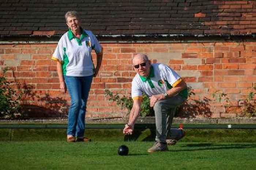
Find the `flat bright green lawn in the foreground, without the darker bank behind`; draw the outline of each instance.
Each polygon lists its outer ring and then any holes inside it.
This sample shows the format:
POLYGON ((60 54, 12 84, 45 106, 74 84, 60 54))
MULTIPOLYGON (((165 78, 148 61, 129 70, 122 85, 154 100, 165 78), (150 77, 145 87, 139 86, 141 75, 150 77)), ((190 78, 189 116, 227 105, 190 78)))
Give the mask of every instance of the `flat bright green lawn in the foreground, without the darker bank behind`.
POLYGON ((0 141, 3 170, 254 170, 256 143, 179 142, 149 154, 153 142, 0 141), (117 155, 121 144, 128 156, 117 155))

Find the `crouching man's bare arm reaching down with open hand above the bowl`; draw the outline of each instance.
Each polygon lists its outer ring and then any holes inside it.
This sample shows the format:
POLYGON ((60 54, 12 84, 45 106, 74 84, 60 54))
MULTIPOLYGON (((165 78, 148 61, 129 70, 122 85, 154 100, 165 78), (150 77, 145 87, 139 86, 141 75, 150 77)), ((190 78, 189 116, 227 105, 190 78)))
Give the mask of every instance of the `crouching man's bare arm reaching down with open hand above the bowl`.
POLYGON ((133 106, 130 112, 129 121, 128 124, 125 125, 125 128, 123 130, 124 134, 132 134, 134 124, 139 117, 140 114, 140 106, 141 106, 142 100, 141 99, 135 99, 133 100, 133 106))

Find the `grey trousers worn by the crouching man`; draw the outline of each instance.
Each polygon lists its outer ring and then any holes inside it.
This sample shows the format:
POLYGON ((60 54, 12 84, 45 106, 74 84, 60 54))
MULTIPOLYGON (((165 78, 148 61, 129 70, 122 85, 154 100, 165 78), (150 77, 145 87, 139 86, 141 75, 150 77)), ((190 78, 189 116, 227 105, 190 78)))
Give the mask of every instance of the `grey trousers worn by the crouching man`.
MULTIPOLYGON (((160 100, 155 103, 155 126, 156 126, 156 141, 166 142, 166 139, 171 139, 175 137, 176 133, 174 129, 171 130, 173 116, 176 107, 181 105, 186 99, 182 98, 180 95, 169 97, 160 100)), ((179 135, 179 134, 177 134, 179 135)))

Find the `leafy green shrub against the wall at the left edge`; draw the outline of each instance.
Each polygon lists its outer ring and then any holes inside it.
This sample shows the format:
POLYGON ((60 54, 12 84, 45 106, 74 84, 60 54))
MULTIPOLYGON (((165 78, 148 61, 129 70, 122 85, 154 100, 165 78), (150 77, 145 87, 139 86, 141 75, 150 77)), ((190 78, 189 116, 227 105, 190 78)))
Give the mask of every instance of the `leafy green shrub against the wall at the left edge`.
POLYGON ((21 94, 10 86, 12 82, 7 81, 5 73, 7 68, 4 68, 3 75, 0 76, 0 118, 11 119, 21 117, 19 100, 21 94))

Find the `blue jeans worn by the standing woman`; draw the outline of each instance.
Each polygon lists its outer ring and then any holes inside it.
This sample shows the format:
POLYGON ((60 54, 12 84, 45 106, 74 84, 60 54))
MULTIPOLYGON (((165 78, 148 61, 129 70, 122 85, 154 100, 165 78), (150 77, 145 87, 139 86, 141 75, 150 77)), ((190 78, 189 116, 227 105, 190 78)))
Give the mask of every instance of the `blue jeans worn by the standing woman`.
POLYGON ((83 137, 86 103, 93 76, 64 76, 64 80, 71 97, 71 104, 68 111, 67 135, 83 137))

